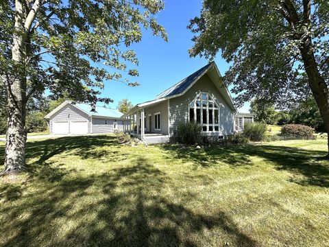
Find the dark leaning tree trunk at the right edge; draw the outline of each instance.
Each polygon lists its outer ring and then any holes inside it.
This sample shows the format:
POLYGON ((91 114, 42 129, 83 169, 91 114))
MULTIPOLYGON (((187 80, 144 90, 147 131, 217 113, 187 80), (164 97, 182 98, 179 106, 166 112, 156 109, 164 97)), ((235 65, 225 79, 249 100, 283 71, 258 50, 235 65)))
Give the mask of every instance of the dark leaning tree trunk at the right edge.
POLYGON ((304 68, 308 76, 308 84, 315 97, 317 106, 322 119, 324 120, 324 125, 328 133, 328 154, 326 158, 329 158, 329 91, 328 86, 324 78, 321 77, 319 69, 317 67, 317 62, 312 49, 312 42, 310 37, 304 40, 304 44, 300 47, 302 54, 302 59, 304 62, 304 68))

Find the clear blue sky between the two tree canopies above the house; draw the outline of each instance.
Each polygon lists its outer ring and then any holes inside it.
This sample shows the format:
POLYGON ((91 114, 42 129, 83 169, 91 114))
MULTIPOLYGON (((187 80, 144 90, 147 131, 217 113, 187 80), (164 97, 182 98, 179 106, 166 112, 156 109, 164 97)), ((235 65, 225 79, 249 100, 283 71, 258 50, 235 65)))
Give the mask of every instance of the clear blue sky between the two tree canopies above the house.
MULTIPOLYGON (((127 98, 134 105, 154 99, 158 93, 176 82, 186 78, 197 69, 208 63, 205 58, 190 58, 188 49, 193 46, 193 34, 187 30, 189 20, 199 16, 202 8, 201 0, 166 0, 164 10, 158 13, 158 22, 164 26, 169 36, 166 43, 162 38, 152 36, 148 30, 143 32, 140 43, 132 45, 136 51, 140 76, 136 79, 141 86, 130 87, 121 82, 106 82, 103 96, 114 99, 111 108, 117 107, 120 99, 127 98)), ((229 68, 229 64, 218 54, 215 59, 222 75, 229 68)), ((232 95, 234 97, 234 95, 232 95)), ((241 112, 249 112, 246 103, 241 112)))

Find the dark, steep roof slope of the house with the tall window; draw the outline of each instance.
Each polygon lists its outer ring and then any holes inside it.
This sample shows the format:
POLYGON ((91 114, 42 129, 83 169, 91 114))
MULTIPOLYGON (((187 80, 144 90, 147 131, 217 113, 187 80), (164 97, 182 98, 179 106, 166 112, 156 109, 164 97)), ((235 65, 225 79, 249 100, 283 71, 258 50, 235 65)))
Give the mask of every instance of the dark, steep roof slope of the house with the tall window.
POLYGON ((178 95, 182 92, 184 92, 185 89, 188 88, 204 71, 206 71, 210 66, 212 65, 212 62, 208 63, 206 66, 202 67, 198 71, 195 71, 193 74, 188 75, 187 78, 184 80, 181 80, 177 84, 171 86, 171 88, 163 91, 158 96, 156 96, 156 99, 161 99, 162 97, 168 97, 173 95, 178 95))

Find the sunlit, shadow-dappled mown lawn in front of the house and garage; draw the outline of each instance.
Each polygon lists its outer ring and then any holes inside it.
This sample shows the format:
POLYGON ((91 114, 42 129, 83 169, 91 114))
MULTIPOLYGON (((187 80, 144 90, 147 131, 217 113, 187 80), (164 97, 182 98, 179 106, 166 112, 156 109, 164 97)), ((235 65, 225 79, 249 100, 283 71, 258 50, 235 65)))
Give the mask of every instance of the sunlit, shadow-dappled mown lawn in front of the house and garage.
POLYGON ((0 246, 328 246, 325 154, 326 140, 30 140, 27 171, 0 178, 0 246))

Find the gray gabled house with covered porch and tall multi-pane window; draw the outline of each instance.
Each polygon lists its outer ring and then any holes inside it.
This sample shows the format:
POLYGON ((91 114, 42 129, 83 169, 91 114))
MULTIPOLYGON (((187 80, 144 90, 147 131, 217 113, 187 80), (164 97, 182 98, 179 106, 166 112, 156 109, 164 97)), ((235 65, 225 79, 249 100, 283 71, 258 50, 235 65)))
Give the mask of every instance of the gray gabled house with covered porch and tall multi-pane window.
POLYGON ((234 133, 236 113, 217 65, 210 62, 155 99, 137 104, 123 118, 131 121, 126 132, 156 143, 174 137, 182 121, 196 121, 204 135, 223 139, 234 133))

